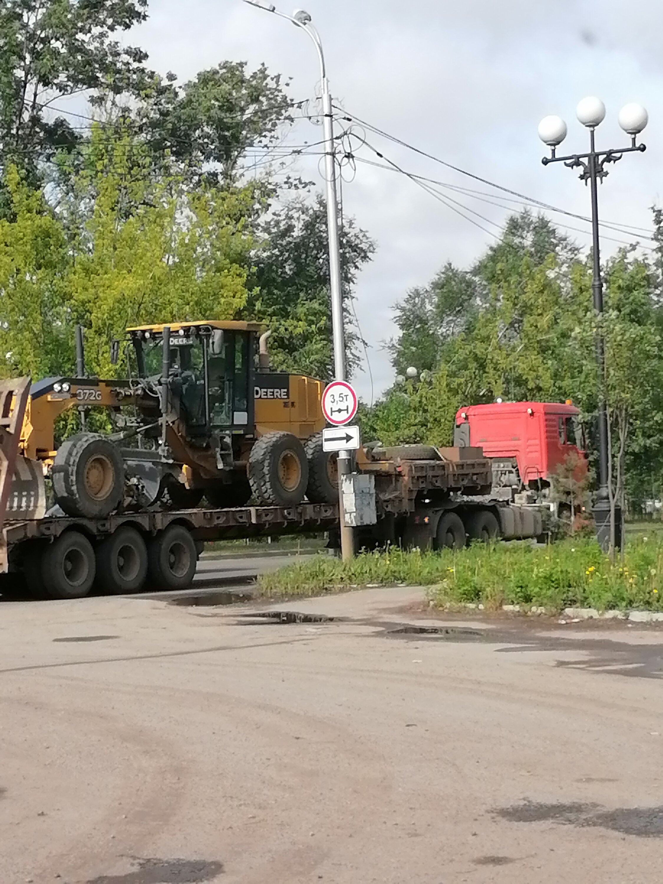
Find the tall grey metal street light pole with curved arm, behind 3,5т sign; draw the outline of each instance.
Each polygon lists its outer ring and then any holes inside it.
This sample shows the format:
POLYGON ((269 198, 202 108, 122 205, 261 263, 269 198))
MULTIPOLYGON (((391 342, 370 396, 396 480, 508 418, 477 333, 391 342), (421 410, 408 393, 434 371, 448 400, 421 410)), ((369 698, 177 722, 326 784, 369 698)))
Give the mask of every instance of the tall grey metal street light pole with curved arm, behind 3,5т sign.
MULTIPOLYGON (((334 379, 346 380, 346 335, 343 323, 343 292, 340 275, 340 238, 339 238, 339 197, 336 189, 336 159, 334 151, 334 118, 331 107, 331 92, 327 70, 324 63, 323 44, 311 17, 305 10, 299 9, 293 15, 279 12, 273 4, 263 4, 259 0, 244 0, 250 6, 257 6, 266 12, 277 15, 279 19, 292 22, 295 27, 309 34, 313 41, 320 62, 322 81, 323 134, 324 134, 324 184, 327 202, 327 231, 329 234, 329 275, 331 289, 331 331, 334 352, 334 379)), ((347 527, 343 507, 343 476, 352 472, 351 453, 339 451, 339 524, 340 548, 344 560, 354 556, 354 529, 347 527)))

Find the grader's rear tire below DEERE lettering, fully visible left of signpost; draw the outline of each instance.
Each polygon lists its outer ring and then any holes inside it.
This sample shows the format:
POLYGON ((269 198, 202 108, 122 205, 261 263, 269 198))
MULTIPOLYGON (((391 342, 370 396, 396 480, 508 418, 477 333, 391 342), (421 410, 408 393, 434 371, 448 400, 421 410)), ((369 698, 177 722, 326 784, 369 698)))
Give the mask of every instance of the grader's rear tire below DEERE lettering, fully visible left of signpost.
POLYGON ((295 507, 309 484, 304 446, 292 433, 265 433, 248 455, 248 481, 259 504, 295 507))

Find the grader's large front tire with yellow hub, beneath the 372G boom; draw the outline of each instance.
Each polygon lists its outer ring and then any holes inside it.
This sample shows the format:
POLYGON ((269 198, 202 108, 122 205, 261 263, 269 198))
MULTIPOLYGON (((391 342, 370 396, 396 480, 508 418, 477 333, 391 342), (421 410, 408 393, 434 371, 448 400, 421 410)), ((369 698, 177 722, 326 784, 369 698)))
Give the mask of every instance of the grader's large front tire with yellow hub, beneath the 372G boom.
POLYGON ((56 503, 67 515, 97 519, 118 508, 125 465, 110 439, 77 433, 57 449, 52 477, 56 503))

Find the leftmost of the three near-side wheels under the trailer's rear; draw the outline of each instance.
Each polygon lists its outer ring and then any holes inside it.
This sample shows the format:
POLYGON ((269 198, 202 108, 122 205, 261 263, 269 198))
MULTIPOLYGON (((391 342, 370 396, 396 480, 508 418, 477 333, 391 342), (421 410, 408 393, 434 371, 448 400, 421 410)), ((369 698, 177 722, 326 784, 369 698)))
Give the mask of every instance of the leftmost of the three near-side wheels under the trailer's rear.
POLYGON ((84 598, 95 583, 95 551, 79 531, 65 531, 42 552, 42 582, 48 598, 84 598))

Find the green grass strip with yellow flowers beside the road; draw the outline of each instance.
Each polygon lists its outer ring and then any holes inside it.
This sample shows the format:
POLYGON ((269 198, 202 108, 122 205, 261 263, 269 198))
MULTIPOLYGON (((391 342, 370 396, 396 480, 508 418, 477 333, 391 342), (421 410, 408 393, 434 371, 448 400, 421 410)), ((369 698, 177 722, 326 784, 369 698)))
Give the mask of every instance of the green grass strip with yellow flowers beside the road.
POLYGON ((611 565, 594 540, 549 546, 473 545, 459 552, 367 552, 347 564, 329 556, 296 562, 258 578, 268 598, 316 596, 370 584, 428 587, 436 606, 461 603, 599 610, 663 610, 663 538, 629 541, 611 565))

